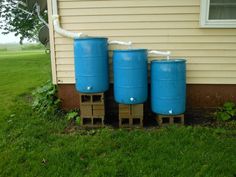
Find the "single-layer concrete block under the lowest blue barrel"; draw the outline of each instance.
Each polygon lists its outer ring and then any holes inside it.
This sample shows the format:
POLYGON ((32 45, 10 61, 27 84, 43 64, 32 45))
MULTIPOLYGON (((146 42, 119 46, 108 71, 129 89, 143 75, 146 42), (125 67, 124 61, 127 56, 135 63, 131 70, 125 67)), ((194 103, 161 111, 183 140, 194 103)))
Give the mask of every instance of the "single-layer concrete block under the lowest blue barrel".
POLYGON ((184 114, 179 115, 157 115, 156 121, 159 126, 184 125, 184 114))

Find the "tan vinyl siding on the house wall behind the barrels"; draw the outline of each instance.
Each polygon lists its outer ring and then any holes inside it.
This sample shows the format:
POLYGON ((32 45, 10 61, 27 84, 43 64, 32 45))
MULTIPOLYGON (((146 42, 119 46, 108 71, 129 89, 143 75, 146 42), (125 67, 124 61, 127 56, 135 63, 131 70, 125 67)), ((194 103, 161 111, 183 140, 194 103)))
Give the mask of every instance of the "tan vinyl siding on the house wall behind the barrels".
MULTIPOLYGON (((59 0, 59 13, 67 30, 186 58, 188 83, 236 84, 236 29, 200 28, 200 0, 59 0)), ((52 46, 57 83, 75 83, 73 40, 55 34, 52 46)))

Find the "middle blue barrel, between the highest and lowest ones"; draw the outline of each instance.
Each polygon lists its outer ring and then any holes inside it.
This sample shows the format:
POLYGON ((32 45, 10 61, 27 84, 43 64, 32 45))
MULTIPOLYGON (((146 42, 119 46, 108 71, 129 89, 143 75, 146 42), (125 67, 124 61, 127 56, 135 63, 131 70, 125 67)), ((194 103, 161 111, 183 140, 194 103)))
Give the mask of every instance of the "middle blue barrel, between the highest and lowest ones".
POLYGON ((147 100, 147 50, 114 50, 114 95, 121 104, 140 104, 147 100))

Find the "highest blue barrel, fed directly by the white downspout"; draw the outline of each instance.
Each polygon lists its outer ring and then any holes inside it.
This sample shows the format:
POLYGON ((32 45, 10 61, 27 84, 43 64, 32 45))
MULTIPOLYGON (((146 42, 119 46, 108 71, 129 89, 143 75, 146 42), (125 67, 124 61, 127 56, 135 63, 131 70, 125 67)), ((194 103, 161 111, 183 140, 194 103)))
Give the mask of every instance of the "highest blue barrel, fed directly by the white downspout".
POLYGON ((107 38, 74 40, 76 90, 81 93, 105 92, 109 88, 107 38))

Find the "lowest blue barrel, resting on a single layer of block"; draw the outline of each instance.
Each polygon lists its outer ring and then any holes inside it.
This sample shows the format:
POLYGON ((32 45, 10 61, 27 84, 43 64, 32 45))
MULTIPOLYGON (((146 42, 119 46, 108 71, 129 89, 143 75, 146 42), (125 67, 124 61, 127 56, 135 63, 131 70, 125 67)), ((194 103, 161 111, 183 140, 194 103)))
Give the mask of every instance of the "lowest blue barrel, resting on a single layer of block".
POLYGON ((163 115, 185 112, 186 60, 154 60, 151 63, 152 111, 163 115))

